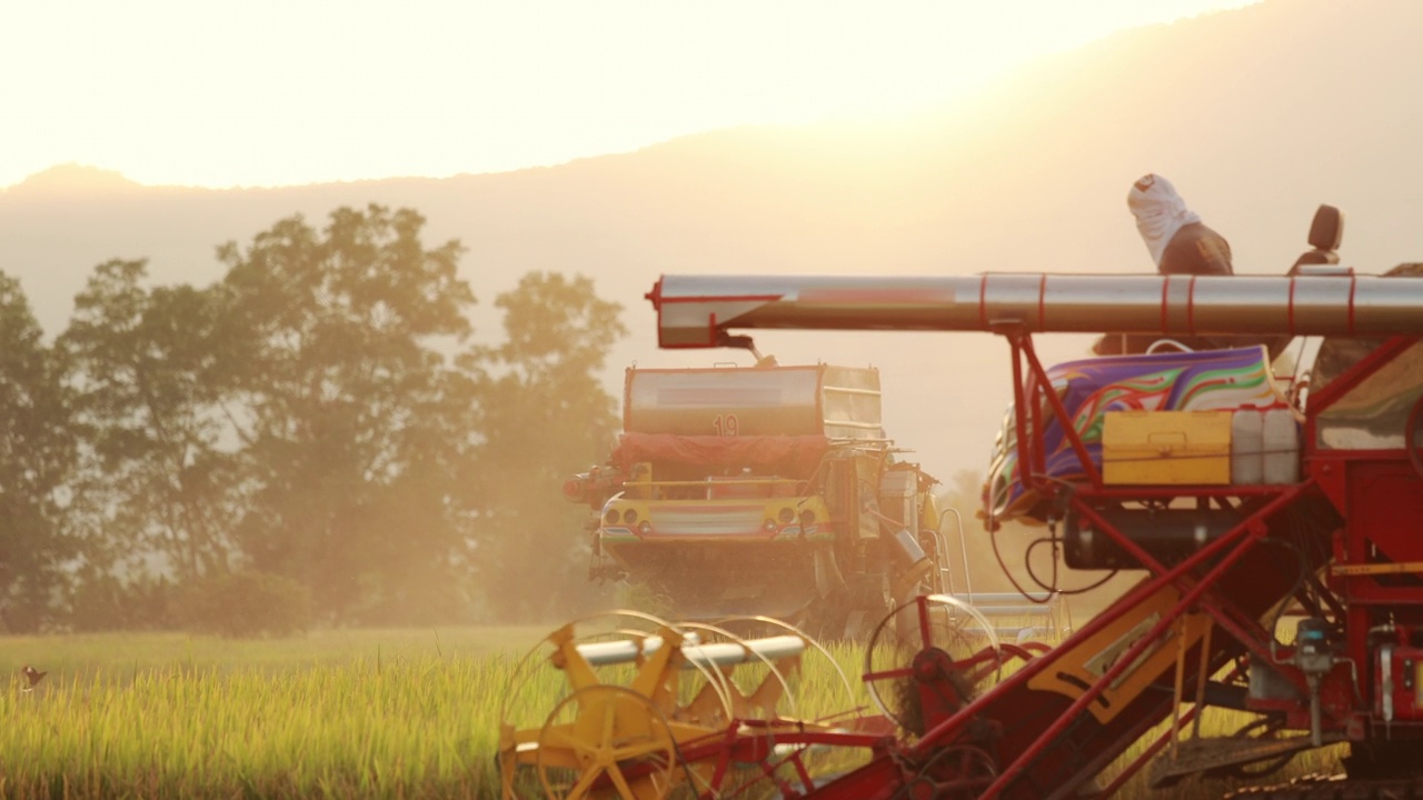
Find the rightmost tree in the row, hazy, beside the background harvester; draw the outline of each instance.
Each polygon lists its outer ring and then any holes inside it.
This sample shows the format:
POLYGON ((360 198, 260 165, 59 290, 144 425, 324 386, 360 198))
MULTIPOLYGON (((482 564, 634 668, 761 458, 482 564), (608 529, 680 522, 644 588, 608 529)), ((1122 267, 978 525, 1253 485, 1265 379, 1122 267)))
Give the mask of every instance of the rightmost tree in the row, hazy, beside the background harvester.
POLYGON ((585 276, 531 273, 495 305, 505 343, 465 362, 484 397, 484 443, 468 480, 474 564, 491 609, 528 621, 586 596, 586 510, 564 502, 558 487, 606 457, 618 407, 599 373, 626 329, 620 306, 585 276))

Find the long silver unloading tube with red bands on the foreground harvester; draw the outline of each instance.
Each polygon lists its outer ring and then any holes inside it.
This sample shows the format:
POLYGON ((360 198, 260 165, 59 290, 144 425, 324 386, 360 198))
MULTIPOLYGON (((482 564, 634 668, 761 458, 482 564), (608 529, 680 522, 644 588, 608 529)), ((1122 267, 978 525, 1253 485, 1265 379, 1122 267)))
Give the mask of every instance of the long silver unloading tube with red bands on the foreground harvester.
POLYGON ((662 347, 731 344, 731 329, 1423 335, 1423 280, 1368 275, 709 276, 647 293, 662 347))

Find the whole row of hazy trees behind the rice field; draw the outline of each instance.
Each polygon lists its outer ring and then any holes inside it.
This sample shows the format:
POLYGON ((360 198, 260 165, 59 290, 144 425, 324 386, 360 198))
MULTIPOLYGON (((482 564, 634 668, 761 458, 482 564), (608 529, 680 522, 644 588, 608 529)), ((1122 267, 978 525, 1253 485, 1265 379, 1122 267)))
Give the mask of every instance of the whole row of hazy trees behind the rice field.
MULTIPOLYGON (((206 288, 110 260, 46 344, 0 275, 9 632, 528 621, 588 599, 562 478, 605 451, 626 332, 583 276, 527 275, 474 343, 464 248, 339 208, 218 248, 206 288)), ((477 265, 477 269, 502 269, 477 265)))

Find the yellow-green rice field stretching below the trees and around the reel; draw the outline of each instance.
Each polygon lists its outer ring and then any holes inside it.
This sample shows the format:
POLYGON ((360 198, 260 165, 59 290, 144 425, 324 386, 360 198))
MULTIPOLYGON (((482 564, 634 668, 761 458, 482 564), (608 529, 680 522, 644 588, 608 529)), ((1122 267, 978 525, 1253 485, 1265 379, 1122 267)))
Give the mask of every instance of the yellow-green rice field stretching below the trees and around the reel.
MULTIPOLYGON (((546 628, 353 631, 285 641, 184 635, 0 639, 0 797, 497 797, 501 705, 546 715, 559 676, 515 668, 546 628), (33 690, 20 668, 48 676, 33 690), (515 689, 521 689, 515 692, 515 689)), ((831 648, 864 705, 862 652, 831 648)), ((541 660, 541 659, 535 659, 541 660)), ((801 716, 845 710, 820 655, 801 716)), ((1238 722, 1205 717, 1208 735, 1238 722)), ((1144 744, 1143 744, 1144 746, 1144 744)), ((1332 754, 1282 773, 1332 772, 1332 754)), ((1109 776, 1110 777, 1110 776, 1109 776)), ((1210 797, 1228 784, 1121 797, 1210 797)))

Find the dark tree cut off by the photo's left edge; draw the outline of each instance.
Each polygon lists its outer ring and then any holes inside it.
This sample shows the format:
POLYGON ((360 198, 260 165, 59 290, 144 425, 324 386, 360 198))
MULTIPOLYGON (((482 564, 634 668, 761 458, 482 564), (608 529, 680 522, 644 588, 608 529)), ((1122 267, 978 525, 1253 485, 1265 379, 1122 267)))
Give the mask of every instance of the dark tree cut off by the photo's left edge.
POLYGON ((74 555, 61 524, 74 440, 60 369, 20 283, 0 273, 0 621, 53 619, 74 555))

